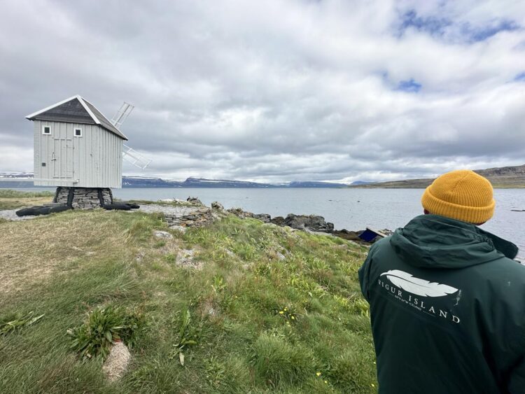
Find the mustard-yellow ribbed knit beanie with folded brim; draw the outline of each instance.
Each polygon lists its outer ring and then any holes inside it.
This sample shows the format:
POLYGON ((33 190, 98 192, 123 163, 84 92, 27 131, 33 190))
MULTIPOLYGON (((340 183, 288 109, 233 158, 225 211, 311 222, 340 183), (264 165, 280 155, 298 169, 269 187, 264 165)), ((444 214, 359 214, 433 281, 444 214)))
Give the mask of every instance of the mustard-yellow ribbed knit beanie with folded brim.
POLYGON ((489 220, 496 206, 491 183, 468 169, 436 178, 423 193, 421 204, 434 215, 474 224, 489 220))

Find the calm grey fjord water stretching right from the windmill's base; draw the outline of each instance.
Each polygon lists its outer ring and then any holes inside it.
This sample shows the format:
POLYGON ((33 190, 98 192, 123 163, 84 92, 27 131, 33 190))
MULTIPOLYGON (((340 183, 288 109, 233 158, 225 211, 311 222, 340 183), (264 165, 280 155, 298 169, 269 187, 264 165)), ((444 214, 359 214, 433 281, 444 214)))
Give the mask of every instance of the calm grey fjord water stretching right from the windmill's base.
MULTIPOLYGON (((186 199, 199 197, 204 204, 218 201, 225 208, 286 216, 288 213, 324 216, 340 230, 377 230, 402 227, 422 213, 419 189, 314 189, 314 188, 125 188, 113 190, 120 199, 186 199)), ((525 260, 524 189, 494 190, 496 213, 482 228, 514 242, 525 260)))

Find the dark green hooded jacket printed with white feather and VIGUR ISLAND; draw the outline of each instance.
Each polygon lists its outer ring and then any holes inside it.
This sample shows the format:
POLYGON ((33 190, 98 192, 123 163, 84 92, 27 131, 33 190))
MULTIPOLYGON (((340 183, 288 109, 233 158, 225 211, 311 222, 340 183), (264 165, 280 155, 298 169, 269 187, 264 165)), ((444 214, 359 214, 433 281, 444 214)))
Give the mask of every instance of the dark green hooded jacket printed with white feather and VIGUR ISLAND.
MULTIPOLYGON (((516 229, 521 231, 521 229, 516 229)), ((525 393, 525 266, 475 225, 421 215, 359 269, 379 393, 525 393)))

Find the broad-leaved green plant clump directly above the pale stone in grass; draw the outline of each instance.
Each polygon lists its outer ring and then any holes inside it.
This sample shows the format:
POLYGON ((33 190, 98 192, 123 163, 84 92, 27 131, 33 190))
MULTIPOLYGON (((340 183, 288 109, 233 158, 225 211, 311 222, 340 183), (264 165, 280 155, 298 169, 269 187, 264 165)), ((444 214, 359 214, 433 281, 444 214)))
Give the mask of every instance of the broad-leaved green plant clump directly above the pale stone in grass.
POLYGON ((118 340, 132 348, 137 342, 137 332, 145 324, 143 315, 109 306, 90 311, 87 322, 70 328, 67 334, 72 339, 71 349, 77 351, 82 358, 106 358, 111 345, 118 340))

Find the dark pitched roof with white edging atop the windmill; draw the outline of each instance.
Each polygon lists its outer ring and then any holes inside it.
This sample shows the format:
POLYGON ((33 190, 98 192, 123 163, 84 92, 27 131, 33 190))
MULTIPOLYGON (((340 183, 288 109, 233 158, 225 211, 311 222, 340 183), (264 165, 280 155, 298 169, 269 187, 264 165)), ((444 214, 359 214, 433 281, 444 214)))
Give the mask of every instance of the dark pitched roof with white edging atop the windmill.
POLYGON ((78 94, 69 99, 59 101, 52 106, 43 108, 40 111, 31 113, 26 116, 29 120, 50 120, 53 122, 72 122, 72 123, 85 123, 87 125, 99 125, 109 132, 116 134, 121 139, 127 140, 127 137, 120 132, 106 118, 97 107, 91 104, 89 101, 83 99, 78 94))

